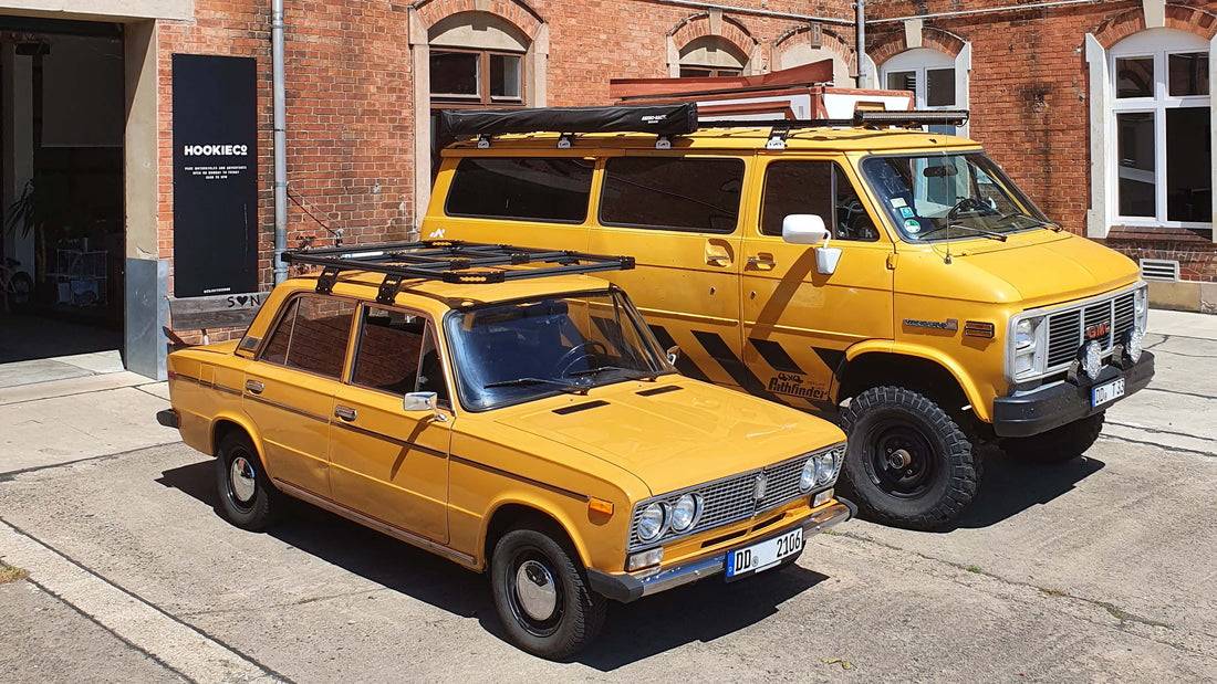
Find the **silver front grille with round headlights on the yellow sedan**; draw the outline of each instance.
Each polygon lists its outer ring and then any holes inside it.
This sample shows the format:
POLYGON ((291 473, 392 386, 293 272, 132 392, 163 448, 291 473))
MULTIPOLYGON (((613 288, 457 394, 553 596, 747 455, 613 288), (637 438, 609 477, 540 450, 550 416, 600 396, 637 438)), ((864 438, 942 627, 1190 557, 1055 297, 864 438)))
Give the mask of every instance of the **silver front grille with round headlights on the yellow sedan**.
MULTIPOLYGON (((840 445, 834 445, 830 448, 837 448, 840 445)), ((641 516, 645 507, 634 507, 634 519, 629 525, 629 549, 634 550, 644 545, 654 545, 668 542, 677 537, 684 537, 722 525, 728 525, 738 520, 751 518, 772 508, 776 508, 784 503, 790 503, 798 497, 811 496, 813 491, 819 491, 824 488, 824 486, 814 487, 811 491, 804 492, 798 488, 798 479, 803 473, 803 464, 807 463, 807 459, 814 454, 823 453, 824 451, 829 450, 806 453, 790 460, 768 465, 761 470, 751 470, 748 473, 733 475, 716 482, 680 490, 679 492, 673 492, 660 497, 658 499, 649 499, 646 502, 647 504, 660 501, 667 503, 668 505, 673 505, 682 494, 696 492, 702 496, 703 503, 701 518, 691 530, 679 535, 666 533, 661 535, 661 537, 656 541, 643 542, 643 539, 638 536, 638 519, 641 516), (753 494, 757 488, 757 475, 762 473, 765 476, 765 492, 764 497, 758 499, 755 498, 753 494)), ((837 469, 840 469, 840 464, 837 465, 837 469)))

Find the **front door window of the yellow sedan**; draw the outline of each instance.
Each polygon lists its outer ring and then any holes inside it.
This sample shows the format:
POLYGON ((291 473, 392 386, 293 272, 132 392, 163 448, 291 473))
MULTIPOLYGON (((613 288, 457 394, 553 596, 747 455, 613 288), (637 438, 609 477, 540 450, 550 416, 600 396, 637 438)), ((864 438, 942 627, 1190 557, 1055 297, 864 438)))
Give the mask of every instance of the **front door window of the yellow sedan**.
POLYGON ((404 311, 365 306, 350 381, 396 395, 414 391, 427 322, 404 311))

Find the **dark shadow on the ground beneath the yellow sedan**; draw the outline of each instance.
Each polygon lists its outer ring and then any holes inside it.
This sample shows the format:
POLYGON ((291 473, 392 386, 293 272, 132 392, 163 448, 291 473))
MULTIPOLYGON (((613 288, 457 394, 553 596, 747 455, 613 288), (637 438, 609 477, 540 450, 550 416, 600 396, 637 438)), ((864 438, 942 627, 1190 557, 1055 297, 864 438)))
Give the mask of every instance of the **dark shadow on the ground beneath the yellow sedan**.
MULTIPOLYGON (((212 460, 166 470, 156 482, 220 515, 212 460)), ((475 617, 506 640, 484 575, 302 502, 292 502, 286 519, 268 533, 388 589, 475 617)), ((730 584, 714 577, 633 604, 611 603, 602 634, 573 661, 608 672, 688 643, 712 641, 774 615, 781 603, 824 580, 792 565, 730 584)))

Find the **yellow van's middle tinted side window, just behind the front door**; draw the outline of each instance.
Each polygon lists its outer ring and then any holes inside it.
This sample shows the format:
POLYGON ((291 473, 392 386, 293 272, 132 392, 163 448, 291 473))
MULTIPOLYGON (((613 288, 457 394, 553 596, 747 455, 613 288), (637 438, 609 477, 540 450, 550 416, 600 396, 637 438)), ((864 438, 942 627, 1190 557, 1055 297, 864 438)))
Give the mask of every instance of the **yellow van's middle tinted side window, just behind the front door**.
POLYGON ((742 159, 616 157, 605 165, 600 222, 731 233, 742 187, 742 159))

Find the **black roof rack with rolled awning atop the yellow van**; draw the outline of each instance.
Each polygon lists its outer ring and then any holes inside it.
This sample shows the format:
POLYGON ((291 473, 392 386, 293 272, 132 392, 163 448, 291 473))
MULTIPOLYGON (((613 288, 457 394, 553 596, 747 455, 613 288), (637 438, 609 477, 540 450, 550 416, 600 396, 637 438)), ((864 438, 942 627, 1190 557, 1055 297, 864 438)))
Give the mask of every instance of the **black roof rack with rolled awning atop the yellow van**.
POLYGON ((668 147, 671 136, 688 135, 699 129, 769 128, 770 146, 775 139, 798 128, 860 126, 914 128, 926 125, 961 126, 966 109, 914 109, 903 112, 859 109, 849 119, 697 119, 697 104, 626 104, 617 107, 538 107, 527 109, 442 109, 439 129, 449 136, 472 135, 478 147, 489 147, 490 139, 504 134, 562 134, 559 147, 571 146, 571 135, 581 132, 650 132, 658 136, 656 147, 668 147), (780 131, 785 131, 780 134, 780 131))

